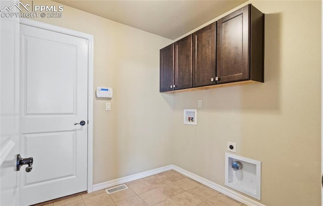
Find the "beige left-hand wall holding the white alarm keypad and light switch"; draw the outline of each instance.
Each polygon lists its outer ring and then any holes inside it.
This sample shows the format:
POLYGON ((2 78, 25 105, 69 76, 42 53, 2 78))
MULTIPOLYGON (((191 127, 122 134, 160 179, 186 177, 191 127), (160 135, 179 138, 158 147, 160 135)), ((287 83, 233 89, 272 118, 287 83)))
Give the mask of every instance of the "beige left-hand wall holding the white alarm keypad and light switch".
POLYGON ((114 89, 111 112, 94 97, 93 183, 169 165, 173 101, 158 91, 159 49, 171 40, 67 6, 63 18, 37 20, 92 34, 94 89, 114 89))

